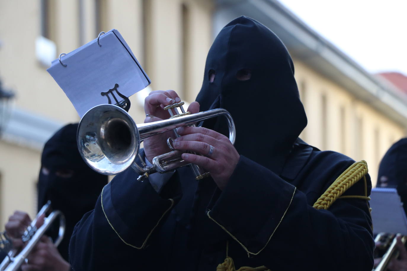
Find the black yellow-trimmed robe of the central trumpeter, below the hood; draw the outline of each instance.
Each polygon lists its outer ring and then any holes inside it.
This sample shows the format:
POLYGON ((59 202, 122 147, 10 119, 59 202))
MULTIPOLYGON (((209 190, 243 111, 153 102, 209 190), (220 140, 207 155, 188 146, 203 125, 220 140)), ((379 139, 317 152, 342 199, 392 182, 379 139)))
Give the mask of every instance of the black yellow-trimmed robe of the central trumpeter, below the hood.
MULTIPOLYGON (((71 264, 77 271, 215 270, 228 241, 236 269, 372 270, 367 202, 338 199, 329 210, 312 207, 353 162, 298 140, 280 176, 241 156, 222 192, 211 180, 193 180, 183 168, 161 195, 127 170, 105 186, 104 211, 99 197, 77 224, 71 264)), ((345 195, 363 191, 358 182, 345 195)))

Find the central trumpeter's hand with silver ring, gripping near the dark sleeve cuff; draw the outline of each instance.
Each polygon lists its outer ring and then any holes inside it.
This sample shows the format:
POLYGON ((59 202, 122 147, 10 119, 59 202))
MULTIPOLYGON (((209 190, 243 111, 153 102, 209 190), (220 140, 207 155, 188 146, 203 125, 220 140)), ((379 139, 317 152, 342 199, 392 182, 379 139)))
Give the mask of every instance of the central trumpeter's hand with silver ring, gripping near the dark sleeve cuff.
POLYGON ((204 155, 184 153, 182 158, 209 171, 219 189, 223 190, 240 158, 229 138, 203 127, 181 127, 178 134, 181 137, 175 139, 175 149, 204 155), (210 145, 213 152, 205 156, 210 151, 210 145))

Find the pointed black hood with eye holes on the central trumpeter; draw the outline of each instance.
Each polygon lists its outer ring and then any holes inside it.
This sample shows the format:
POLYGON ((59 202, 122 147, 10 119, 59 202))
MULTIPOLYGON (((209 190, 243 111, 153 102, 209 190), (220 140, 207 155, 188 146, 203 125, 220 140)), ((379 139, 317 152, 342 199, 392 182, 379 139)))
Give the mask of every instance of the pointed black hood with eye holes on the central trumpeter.
MULTIPOLYGON (((245 16, 216 37, 196 100, 201 111, 228 110, 236 125, 236 150, 276 174, 307 123, 287 48, 266 26, 245 16), (249 80, 236 78, 242 69, 251 71, 249 80)), ((228 134, 222 119, 204 126, 228 134)))

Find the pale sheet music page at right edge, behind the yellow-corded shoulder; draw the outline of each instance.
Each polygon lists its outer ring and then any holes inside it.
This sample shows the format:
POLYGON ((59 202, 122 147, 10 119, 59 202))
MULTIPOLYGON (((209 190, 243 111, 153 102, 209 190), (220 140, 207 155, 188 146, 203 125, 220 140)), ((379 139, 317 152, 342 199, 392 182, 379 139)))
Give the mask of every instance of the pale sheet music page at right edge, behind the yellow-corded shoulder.
POLYGON ((395 188, 374 188, 370 194, 373 232, 407 235, 407 218, 395 188))

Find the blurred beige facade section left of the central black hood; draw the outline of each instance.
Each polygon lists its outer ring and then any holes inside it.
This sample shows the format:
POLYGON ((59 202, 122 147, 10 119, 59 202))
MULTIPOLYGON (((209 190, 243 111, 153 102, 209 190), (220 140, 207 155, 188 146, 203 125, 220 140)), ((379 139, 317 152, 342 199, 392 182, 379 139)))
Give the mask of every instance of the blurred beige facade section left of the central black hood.
POLYGON ((16 209, 35 215, 43 144, 62 125, 79 121, 46 72, 50 61, 118 29, 152 81, 130 98, 129 113, 140 123, 152 89, 194 100, 212 42, 213 7, 207 0, 0 0, 0 80, 16 94, 0 140, 0 230, 16 209), (44 37, 45 44, 38 41, 44 37))

